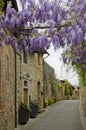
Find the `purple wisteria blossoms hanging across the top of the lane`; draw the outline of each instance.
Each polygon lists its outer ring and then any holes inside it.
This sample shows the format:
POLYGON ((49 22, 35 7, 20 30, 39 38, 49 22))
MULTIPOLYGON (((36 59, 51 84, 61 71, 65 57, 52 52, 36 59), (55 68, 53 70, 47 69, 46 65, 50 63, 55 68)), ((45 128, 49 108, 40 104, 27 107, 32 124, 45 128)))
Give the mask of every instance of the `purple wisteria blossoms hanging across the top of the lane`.
MULTIPOLYGON (((21 0, 22 10, 8 4, 0 16, 0 46, 12 45, 26 53, 69 47, 72 65, 86 71, 86 0, 21 0)), ((67 57, 63 60, 67 61, 67 57)))

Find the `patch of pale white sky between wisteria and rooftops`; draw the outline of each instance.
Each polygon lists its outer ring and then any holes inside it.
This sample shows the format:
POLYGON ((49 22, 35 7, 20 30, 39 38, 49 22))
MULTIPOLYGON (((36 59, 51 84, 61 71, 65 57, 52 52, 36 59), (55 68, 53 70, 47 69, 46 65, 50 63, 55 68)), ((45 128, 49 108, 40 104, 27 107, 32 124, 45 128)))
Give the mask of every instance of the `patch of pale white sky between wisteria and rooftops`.
MULTIPOLYGON (((61 53, 62 48, 58 50, 54 50, 53 46, 50 47, 48 50, 48 53, 50 54, 47 58, 45 58, 45 61, 55 70, 55 75, 57 79, 67 79, 72 85, 77 86, 78 85, 78 75, 76 72, 73 71, 73 69, 69 69, 67 71, 67 67, 63 64, 63 61, 61 59, 61 53)), ((44 56, 45 57, 45 56, 44 56)))

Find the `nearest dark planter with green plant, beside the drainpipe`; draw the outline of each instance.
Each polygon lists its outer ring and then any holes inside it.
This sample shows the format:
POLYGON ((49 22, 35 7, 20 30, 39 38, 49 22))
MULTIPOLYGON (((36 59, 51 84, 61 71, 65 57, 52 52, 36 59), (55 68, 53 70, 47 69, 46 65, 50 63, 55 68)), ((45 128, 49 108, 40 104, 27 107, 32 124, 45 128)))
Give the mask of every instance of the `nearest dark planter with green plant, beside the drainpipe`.
POLYGON ((29 120, 31 109, 25 103, 20 104, 19 108, 19 123, 26 124, 29 120))

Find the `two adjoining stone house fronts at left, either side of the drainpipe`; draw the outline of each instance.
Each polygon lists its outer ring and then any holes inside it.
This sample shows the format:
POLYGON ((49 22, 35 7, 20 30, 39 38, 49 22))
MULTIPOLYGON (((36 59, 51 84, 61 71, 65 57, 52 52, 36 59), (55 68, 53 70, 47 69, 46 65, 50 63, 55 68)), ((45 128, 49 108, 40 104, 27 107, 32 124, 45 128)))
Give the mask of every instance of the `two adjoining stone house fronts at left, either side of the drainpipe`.
POLYGON ((38 101, 43 108, 42 54, 15 53, 11 46, 0 48, 0 130, 13 130, 18 125, 20 102, 29 106, 38 101))

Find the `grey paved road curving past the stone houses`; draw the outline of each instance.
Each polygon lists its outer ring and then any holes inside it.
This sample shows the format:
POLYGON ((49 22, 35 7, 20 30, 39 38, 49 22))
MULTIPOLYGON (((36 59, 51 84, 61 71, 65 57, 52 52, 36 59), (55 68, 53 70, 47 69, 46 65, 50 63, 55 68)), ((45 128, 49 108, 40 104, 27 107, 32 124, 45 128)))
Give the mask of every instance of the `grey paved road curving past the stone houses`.
POLYGON ((78 100, 56 103, 21 130, 83 130, 78 100))

